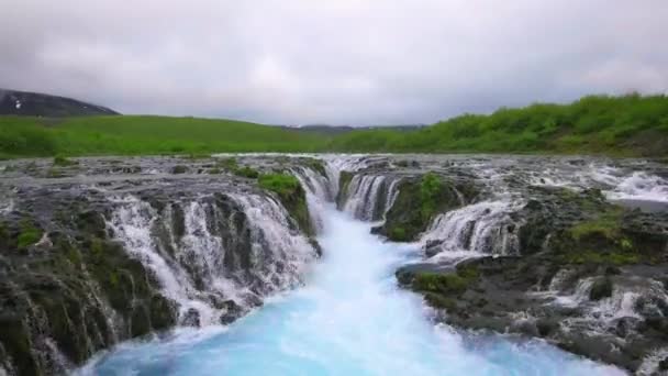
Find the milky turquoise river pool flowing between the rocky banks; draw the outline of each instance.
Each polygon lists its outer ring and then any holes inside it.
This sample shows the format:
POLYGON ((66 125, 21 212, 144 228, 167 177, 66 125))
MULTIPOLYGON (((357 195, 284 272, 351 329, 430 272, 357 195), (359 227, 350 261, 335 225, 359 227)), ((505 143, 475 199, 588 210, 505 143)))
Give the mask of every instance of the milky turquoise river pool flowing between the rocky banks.
POLYGON ((181 330, 127 343, 81 369, 91 375, 610 375, 612 367, 542 342, 463 336, 435 327, 396 286, 414 254, 369 224, 325 209, 323 259, 305 287, 230 328, 181 330))

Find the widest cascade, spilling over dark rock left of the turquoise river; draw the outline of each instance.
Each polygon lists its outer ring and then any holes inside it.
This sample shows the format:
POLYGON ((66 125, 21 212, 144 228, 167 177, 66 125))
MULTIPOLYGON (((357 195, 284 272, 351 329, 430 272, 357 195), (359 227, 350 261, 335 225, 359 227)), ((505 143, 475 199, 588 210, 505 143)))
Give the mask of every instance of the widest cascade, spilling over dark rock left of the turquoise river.
POLYGON ((108 221, 178 305, 179 322, 227 322, 301 283, 316 252, 268 196, 214 195, 162 210, 129 196, 108 221))

